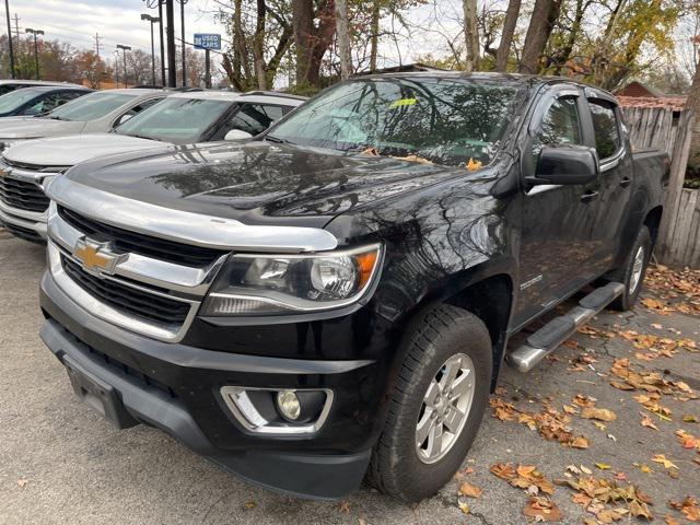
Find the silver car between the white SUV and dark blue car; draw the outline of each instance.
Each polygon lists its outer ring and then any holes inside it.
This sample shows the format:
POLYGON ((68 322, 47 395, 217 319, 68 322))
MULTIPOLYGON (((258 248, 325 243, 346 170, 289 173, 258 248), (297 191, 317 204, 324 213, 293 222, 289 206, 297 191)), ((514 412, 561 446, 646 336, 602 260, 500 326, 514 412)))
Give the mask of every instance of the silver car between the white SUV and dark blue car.
POLYGON ((109 131, 168 94, 164 90, 96 91, 40 117, 1 119, 0 151, 20 140, 109 131))

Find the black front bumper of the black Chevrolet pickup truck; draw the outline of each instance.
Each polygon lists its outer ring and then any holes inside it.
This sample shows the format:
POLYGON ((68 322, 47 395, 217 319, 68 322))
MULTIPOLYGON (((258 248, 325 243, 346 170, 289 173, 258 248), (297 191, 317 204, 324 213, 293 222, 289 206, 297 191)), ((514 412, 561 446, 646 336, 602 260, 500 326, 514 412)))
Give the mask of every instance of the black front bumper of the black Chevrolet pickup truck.
POLYGON ((116 412, 109 419, 118 427, 160 428, 241 477, 284 493, 337 499, 361 482, 378 428, 376 412, 369 412, 380 405, 376 388, 369 387, 381 383, 377 363, 245 355, 156 341, 90 315, 49 273, 42 280, 42 308, 47 317, 42 338, 74 385, 77 376, 86 376, 108 390, 116 412), (323 386, 334 390, 334 406, 316 434, 250 435, 219 395, 229 384, 323 386))

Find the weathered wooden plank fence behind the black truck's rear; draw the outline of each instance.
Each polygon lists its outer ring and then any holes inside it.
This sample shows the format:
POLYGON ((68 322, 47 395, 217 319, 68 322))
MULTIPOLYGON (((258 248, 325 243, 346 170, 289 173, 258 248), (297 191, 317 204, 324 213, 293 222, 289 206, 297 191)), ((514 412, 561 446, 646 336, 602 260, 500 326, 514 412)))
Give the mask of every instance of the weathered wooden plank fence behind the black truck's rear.
POLYGON ((669 107, 622 107, 633 149, 658 148, 670 156, 670 180, 656 258, 670 267, 700 268, 700 190, 682 187, 692 114, 669 107))

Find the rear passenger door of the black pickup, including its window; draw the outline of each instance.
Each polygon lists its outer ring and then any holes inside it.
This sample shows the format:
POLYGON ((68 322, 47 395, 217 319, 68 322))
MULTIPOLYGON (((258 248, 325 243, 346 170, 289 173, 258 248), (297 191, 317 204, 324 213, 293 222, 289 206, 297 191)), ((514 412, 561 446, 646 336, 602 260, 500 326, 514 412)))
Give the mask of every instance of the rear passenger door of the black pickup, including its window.
POLYGON ((590 89, 586 89, 586 95, 600 163, 600 203, 593 231, 592 265, 602 273, 614 266, 614 258, 618 255, 629 213, 633 167, 617 104, 590 89))

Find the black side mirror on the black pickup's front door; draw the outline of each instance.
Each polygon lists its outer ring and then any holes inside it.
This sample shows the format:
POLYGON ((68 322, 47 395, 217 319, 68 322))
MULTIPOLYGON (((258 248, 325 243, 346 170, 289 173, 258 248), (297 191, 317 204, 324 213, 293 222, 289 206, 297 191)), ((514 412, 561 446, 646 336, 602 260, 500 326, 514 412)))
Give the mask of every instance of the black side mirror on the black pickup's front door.
POLYGON ((598 159, 592 148, 542 148, 536 174, 527 177, 527 182, 533 186, 587 184, 597 176, 598 159))

